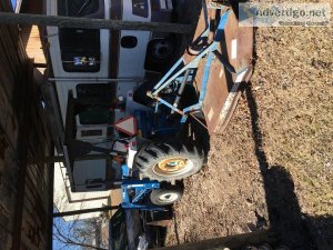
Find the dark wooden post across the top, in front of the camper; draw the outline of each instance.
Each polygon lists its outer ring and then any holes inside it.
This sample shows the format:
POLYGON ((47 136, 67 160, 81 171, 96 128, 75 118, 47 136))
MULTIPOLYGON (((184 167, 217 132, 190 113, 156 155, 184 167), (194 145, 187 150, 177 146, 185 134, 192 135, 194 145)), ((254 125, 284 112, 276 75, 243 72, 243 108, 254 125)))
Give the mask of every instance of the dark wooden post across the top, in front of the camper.
POLYGON ((26 14, 0 12, 0 23, 37 24, 60 28, 109 29, 109 30, 147 30, 157 32, 184 33, 193 32, 194 27, 180 23, 120 21, 91 18, 56 17, 43 14, 26 14))

